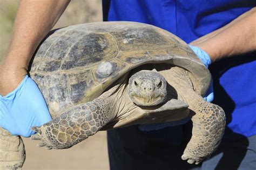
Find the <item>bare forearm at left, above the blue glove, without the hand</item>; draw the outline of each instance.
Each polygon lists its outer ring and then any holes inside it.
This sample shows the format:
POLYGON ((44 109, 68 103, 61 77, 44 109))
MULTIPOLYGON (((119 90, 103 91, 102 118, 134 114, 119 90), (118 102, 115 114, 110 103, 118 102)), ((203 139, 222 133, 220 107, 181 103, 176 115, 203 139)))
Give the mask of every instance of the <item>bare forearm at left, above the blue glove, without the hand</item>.
POLYGON ((68 4, 67 0, 20 2, 8 50, 0 65, 0 94, 7 94, 19 84, 36 47, 68 4))

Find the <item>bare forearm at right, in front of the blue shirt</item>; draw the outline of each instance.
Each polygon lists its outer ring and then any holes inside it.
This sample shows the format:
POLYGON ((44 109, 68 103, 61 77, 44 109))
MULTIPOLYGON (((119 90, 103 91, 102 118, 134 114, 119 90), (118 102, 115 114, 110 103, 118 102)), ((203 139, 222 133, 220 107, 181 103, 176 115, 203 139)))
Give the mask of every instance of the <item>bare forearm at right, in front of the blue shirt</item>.
POLYGON ((256 50, 256 8, 234 19, 230 24, 191 43, 203 49, 211 60, 256 50))

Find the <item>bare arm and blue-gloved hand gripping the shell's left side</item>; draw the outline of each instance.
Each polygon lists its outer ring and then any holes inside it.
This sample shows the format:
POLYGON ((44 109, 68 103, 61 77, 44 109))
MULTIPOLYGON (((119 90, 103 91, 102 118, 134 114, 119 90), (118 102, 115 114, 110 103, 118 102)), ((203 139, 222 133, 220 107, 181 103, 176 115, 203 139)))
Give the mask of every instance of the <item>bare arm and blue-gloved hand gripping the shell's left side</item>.
POLYGON ((42 93, 26 76, 38 44, 52 29, 69 1, 29 1, 19 4, 8 50, 0 64, 0 126, 29 137, 31 126, 51 120, 42 93))

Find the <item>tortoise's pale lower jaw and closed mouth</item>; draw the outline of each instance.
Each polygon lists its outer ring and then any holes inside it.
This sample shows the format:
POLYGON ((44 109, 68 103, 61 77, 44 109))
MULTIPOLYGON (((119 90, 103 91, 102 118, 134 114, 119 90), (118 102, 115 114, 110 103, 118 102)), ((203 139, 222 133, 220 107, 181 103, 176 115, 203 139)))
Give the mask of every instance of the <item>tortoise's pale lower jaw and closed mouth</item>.
POLYGON ((158 95, 158 96, 147 96, 147 97, 142 97, 142 96, 137 96, 137 95, 130 95, 131 100, 133 101, 134 104, 137 106, 156 106, 161 103, 164 103, 166 100, 166 96, 163 95, 158 95))

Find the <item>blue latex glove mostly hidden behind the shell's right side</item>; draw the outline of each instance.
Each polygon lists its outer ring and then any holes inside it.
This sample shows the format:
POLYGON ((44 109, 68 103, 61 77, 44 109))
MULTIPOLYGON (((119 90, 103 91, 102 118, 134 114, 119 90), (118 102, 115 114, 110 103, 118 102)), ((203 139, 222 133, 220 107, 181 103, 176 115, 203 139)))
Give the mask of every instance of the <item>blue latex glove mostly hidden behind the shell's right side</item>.
MULTIPOLYGON (((196 53, 198 58, 204 63, 204 65, 208 68, 208 66, 212 63, 210 56, 202 49, 200 49, 197 46, 189 45, 190 48, 196 53)), ((206 92, 204 99, 208 102, 211 102, 214 98, 213 95, 213 83, 211 80, 210 87, 208 91, 206 92)), ((179 121, 171 121, 167 123, 161 123, 161 124, 151 124, 151 125, 139 125, 140 131, 152 131, 152 130, 160 130, 161 128, 169 127, 169 126, 177 126, 177 125, 183 125, 187 123, 187 121, 190 120, 190 118, 181 119, 179 121)))

